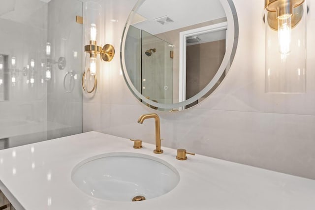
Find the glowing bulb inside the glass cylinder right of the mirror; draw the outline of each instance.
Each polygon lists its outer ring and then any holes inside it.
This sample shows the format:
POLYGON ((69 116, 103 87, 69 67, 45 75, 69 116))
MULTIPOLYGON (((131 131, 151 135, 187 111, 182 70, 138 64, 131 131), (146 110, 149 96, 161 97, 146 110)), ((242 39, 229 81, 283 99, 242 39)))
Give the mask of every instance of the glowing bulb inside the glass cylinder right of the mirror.
POLYGON ((285 14, 278 17, 278 42, 279 51, 286 55, 291 52, 291 14, 285 14))

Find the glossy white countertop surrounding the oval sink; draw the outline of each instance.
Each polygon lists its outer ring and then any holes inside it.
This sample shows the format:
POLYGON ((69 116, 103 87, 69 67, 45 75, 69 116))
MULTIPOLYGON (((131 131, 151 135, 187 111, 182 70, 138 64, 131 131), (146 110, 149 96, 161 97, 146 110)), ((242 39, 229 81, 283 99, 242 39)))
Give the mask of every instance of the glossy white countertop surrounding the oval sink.
MULTIPOLYGON (((154 142, 154 140, 152 140, 154 142)), ((163 143, 162 143, 163 144, 163 143)), ((314 210, 315 180, 308 180, 196 154, 179 161, 176 150, 88 132, 0 150, 0 189, 17 210, 314 210), (152 155, 173 165, 178 185, 160 197, 114 202, 86 195, 71 181, 81 161, 108 152, 152 155)), ((189 150, 189 149, 188 149, 189 150)))

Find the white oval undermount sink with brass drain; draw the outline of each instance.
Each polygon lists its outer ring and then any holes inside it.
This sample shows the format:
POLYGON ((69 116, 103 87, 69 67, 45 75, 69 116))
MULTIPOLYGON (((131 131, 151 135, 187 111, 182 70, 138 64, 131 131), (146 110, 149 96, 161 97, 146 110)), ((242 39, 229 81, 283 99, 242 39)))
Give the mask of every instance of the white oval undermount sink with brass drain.
POLYGON ((115 152, 82 161, 73 169, 71 179, 90 196, 128 202, 161 196, 176 187, 180 176, 159 158, 115 152))

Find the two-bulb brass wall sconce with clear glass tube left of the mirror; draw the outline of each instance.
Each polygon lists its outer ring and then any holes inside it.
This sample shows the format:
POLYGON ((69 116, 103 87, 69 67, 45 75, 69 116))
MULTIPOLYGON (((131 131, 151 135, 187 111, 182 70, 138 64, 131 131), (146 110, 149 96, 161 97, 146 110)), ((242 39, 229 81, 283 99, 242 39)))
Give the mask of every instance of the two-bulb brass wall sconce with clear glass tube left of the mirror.
POLYGON ((105 44, 103 47, 98 45, 101 39, 101 6, 99 3, 89 1, 84 4, 84 28, 85 28, 85 72, 82 75, 82 87, 88 93, 92 93, 97 87, 96 71, 100 69, 100 63, 97 60, 97 55, 100 61, 111 61, 115 55, 113 45, 105 44), (91 78, 93 77, 93 78, 91 78), (88 90, 87 81, 92 80, 93 88, 88 90))

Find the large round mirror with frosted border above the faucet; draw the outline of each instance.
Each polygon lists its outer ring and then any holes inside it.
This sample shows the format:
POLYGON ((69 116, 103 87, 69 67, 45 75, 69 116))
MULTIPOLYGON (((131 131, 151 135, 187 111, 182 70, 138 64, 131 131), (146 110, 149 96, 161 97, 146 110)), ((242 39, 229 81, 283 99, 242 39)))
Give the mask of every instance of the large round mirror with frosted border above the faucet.
POLYGON ((232 0, 138 0, 121 44, 124 78, 148 107, 184 110, 218 88, 237 42, 232 0))

